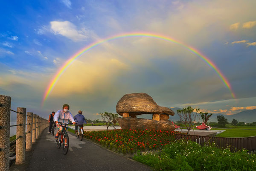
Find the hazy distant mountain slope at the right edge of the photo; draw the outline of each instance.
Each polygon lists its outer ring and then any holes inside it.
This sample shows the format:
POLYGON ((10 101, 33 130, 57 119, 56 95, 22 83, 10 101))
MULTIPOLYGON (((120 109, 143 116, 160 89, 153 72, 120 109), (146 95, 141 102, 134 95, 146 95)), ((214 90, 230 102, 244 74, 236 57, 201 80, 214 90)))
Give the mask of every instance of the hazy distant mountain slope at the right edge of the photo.
POLYGON ((227 118, 228 122, 232 122, 233 119, 236 119, 238 122, 252 123, 256 122, 256 109, 244 110, 234 115, 226 115, 224 117, 227 118))

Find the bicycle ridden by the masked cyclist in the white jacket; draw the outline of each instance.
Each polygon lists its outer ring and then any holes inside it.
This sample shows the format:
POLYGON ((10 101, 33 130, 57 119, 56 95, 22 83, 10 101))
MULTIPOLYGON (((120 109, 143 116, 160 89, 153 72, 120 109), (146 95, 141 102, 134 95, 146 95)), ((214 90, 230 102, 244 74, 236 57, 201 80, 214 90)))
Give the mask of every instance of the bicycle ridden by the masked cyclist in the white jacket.
POLYGON ((62 133, 60 133, 60 135, 58 137, 57 147, 61 148, 61 143, 62 143, 63 144, 63 154, 66 155, 67 151, 68 151, 68 147, 69 147, 69 138, 68 138, 68 135, 67 135, 67 129, 68 129, 67 125, 71 125, 71 124, 64 124, 64 123, 61 123, 61 122, 59 122, 59 124, 62 125, 63 131, 62 131, 62 133), (66 143, 65 143, 65 140, 66 140, 66 143))

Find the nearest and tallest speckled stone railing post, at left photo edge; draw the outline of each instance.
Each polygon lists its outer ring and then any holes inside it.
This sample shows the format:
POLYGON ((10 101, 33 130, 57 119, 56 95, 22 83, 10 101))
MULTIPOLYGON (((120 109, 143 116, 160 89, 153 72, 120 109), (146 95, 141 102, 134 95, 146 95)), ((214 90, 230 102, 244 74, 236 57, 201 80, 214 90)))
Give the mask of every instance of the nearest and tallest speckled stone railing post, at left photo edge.
POLYGON ((11 97, 0 95, 0 171, 9 171, 11 97))

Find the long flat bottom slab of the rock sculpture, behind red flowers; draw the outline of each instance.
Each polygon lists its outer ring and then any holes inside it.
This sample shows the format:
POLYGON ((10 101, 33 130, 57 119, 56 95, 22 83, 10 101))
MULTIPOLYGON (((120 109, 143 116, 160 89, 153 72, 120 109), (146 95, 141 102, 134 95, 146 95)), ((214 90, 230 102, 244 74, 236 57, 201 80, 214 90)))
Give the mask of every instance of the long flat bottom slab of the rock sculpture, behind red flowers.
POLYGON ((175 130, 175 125, 169 120, 151 120, 143 118, 118 118, 118 123, 122 129, 134 129, 134 130, 175 130))

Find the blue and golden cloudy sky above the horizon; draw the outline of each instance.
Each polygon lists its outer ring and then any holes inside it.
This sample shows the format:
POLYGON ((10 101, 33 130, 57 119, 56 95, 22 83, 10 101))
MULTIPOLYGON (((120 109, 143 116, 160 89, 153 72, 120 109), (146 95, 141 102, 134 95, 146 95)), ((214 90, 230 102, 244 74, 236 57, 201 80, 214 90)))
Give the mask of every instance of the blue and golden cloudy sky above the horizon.
POLYGON ((70 104, 88 119, 115 113, 127 93, 148 93, 166 107, 234 114, 256 108, 255 0, 44 0, 0 6, 0 94, 12 109, 48 116, 70 104), (133 37, 106 41, 82 54, 44 94, 79 50, 105 38, 147 32, 183 42, 133 37))

